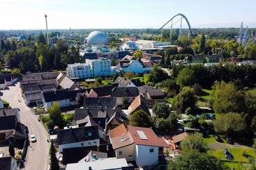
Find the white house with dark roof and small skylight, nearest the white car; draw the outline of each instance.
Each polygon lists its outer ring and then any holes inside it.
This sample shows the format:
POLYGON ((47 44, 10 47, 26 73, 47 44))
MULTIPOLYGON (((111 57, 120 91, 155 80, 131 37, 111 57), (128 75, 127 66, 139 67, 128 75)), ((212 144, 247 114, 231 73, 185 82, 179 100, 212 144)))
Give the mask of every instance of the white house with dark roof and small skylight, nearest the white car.
POLYGON ((59 151, 64 148, 76 148, 100 145, 100 133, 98 126, 86 126, 80 128, 68 128, 57 130, 59 151))

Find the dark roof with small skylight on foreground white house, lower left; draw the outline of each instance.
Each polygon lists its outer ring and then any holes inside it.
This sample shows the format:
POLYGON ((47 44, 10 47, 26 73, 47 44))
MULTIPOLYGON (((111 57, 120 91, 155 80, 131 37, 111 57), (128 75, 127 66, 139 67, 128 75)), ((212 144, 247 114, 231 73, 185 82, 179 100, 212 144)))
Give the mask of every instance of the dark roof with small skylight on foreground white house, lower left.
POLYGON ((81 128, 70 128, 57 131, 58 144, 70 144, 93 139, 100 139, 98 126, 88 126, 81 128), (91 133, 91 136, 88 134, 91 133))

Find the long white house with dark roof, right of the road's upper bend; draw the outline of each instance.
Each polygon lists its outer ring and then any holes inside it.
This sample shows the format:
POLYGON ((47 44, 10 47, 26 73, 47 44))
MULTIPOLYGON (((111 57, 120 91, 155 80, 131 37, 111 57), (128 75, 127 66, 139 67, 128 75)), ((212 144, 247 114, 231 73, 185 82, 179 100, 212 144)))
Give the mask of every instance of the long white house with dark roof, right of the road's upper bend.
POLYGON ((54 102, 59 103, 61 108, 78 105, 77 94, 85 90, 54 90, 43 92, 43 106, 49 109, 54 102))

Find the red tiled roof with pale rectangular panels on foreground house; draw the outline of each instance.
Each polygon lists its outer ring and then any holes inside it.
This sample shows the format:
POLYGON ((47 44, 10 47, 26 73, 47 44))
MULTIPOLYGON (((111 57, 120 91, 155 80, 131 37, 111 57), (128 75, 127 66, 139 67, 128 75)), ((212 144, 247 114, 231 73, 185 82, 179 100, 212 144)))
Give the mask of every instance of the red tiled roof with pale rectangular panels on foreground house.
POLYGON ((169 145, 165 142, 165 139, 158 137, 151 128, 128 126, 128 132, 133 137, 135 144, 169 148, 169 145), (142 131, 146 136, 146 139, 141 139, 138 131, 142 131))

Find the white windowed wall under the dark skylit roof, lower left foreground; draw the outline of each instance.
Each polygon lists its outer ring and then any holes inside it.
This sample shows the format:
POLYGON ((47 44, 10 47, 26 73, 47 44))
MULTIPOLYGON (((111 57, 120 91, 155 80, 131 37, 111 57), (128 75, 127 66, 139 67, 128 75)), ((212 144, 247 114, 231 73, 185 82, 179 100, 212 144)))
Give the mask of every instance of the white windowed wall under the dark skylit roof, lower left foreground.
POLYGON ((63 152, 63 148, 77 148, 77 147, 85 147, 85 146, 97 146, 100 145, 100 139, 88 140, 84 142, 74 142, 70 144, 60 144, 59 151, 63 152), (91 144, 89 144, 91 142, 91 144))

